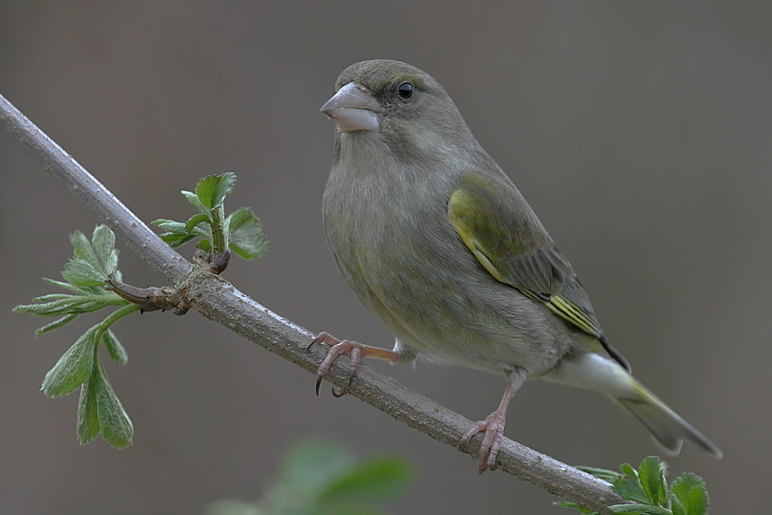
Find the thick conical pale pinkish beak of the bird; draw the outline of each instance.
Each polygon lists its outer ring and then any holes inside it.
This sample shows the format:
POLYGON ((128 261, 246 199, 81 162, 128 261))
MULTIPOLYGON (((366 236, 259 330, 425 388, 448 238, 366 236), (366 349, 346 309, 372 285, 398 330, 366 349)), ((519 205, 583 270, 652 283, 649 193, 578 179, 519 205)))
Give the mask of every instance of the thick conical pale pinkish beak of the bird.
POLYGON ((356 83, 344 85, 322 105, 322 113, 327 114, 346 132, 380 131, 378 114, 382 112, 381 104, 356 83))

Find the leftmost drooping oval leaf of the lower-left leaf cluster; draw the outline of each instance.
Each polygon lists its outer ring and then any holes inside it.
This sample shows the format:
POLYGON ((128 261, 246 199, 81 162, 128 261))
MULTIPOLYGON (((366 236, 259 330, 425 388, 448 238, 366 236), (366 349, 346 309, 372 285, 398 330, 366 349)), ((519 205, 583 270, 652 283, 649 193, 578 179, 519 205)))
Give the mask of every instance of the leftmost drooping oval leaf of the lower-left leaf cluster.
POLYGON ((49 397, 69 395, 91 375, 94 365, 95 337, 100 326, 94 325, 73 343, 56 361, 54 368, 45 374, 41 390, 49 397))

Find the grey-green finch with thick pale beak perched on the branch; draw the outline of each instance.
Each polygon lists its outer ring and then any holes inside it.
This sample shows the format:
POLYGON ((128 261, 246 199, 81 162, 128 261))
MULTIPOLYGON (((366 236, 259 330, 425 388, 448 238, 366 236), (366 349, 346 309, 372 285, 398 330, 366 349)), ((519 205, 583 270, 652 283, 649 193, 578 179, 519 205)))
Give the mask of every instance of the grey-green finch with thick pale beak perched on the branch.
POLYGON ((568 260, 430 74, 387 59, 351 64, 322 113, 335 123, 326 240, 395 344, 321 332, 317 394, 338 356, 349 355, 351 379, 362 358, 421 357, 505 377, 499 407, 460 437, 463 447, 483 433, 480 472, 495 468, 510 399, 533 379, 609 396, 670 454, 687 440, 721 457, 631 375, 568 260))

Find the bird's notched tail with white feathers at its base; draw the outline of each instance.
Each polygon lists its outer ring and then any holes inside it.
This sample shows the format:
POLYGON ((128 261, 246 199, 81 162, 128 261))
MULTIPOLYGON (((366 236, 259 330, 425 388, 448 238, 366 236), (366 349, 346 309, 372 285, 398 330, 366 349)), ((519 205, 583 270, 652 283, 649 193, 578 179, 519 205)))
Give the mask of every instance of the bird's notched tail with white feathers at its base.
POLYGON ((638 382, 616 361, 597 353, 572 356, 543 379, 599 391, 619 403, 651 432, 669 454, 678 454, 684 440, 692 441, 715 458, 721 451, 638 382))

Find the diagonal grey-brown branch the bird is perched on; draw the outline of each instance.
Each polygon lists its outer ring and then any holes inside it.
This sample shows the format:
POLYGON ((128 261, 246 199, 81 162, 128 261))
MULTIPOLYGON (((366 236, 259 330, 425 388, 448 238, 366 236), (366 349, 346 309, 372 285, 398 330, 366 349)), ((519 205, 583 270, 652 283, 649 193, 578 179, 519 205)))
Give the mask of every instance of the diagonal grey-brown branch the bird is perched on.
MULTIPOLYGON (((190 307, 307 371, 316 372, 326 352, 307 349, 314 336, 311 332, 253 301, 221 277, 187 262, 2 94, 0 124, 109 225, 134 253, 181 291, 190 307)), ((347 365, 336 362, 326 379, 434 440, 456 447, 472 423, 367 365, 360 367, 350 386, 348 370, 347 365)), ((476 456, 480 439, 480 435, 476 436, 463 451, 476 456)), ((499 452, 499 468, 601 513, 609 513, 609 505, 626 502, 610 490, 609 483, 508 439, 499 452)))

